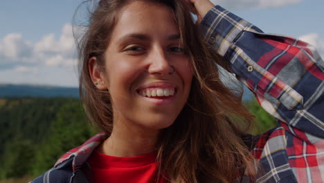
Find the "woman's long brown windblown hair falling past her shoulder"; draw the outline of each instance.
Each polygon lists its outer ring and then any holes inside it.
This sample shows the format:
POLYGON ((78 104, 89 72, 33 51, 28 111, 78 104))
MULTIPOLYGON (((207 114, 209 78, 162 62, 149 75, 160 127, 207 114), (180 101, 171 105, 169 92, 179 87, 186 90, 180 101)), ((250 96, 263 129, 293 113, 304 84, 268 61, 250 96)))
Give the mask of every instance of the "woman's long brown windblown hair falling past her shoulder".
MULTIPOLYGON (((98 90, 89 75, 92 56, 105 67, 104 52, 121 8, 136 0, 101 0, 94 7, 82 37, 76 37, 80 67, 80 98, 91 122, 109 136, 113 114, 109 92, 98 90), (80 38, 80 39, 78 39, 80 38)), ((226 61, 206 44, 185 1, 150 1, 168 6, 188 47, 194 77, 186 105, 156 143, 159 173, 170 182, 235 182, 244 169, 253 171, 253 159, 242 137, 253 116, 242 105, 241 93, 220 80, 226 61), (234 92, 233 92, 234 91, 234 92)), ((223 76, 224 77, 224 76, 223 76)))

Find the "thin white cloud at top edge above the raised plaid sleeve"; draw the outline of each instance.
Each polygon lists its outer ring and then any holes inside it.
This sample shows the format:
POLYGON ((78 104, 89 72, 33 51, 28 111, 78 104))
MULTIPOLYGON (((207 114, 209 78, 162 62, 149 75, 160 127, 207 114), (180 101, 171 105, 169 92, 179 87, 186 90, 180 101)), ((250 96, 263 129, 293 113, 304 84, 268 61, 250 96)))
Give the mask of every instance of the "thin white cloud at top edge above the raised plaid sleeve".
POLYGON ((300 3, 302 0, 212 0, 225 8, 246 10, 246 8, 276 8, 300 3))

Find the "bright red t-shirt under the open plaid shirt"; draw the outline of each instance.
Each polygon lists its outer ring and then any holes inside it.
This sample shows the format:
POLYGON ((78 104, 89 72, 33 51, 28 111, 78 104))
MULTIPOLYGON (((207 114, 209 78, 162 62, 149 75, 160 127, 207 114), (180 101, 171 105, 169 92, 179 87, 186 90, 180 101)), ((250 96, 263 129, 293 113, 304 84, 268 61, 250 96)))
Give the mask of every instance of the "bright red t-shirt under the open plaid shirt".
MULTIPOLYGON (((88 159, 93 171, 93 182, 156 182, 158 163, 156 153, 138 157, 112 157, 94 150, 88 159)), ((164 183, 163 177, 159 183, 164 183)))

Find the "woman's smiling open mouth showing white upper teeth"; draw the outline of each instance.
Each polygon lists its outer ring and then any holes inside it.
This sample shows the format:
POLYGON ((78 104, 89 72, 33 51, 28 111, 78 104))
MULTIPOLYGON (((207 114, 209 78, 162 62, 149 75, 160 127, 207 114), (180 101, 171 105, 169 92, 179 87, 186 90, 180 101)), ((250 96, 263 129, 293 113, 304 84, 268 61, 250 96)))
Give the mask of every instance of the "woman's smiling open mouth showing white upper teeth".
POLYGON ((147 98, 165 98, 168 96, 174 96, 175 88, 147 88, 138 91, 138 94, 147 98))

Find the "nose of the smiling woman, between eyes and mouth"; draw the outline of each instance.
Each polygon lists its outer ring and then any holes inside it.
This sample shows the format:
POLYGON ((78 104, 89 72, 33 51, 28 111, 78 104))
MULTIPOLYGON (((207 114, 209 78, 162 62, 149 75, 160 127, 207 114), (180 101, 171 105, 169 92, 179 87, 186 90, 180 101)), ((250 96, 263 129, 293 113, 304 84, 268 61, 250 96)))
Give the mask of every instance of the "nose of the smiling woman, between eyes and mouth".
POLYGON ((150 53, 150 66, 147 71, 152 74, 165 75, 172 72, 168 55, 162 49, 156 49, 150 53))

